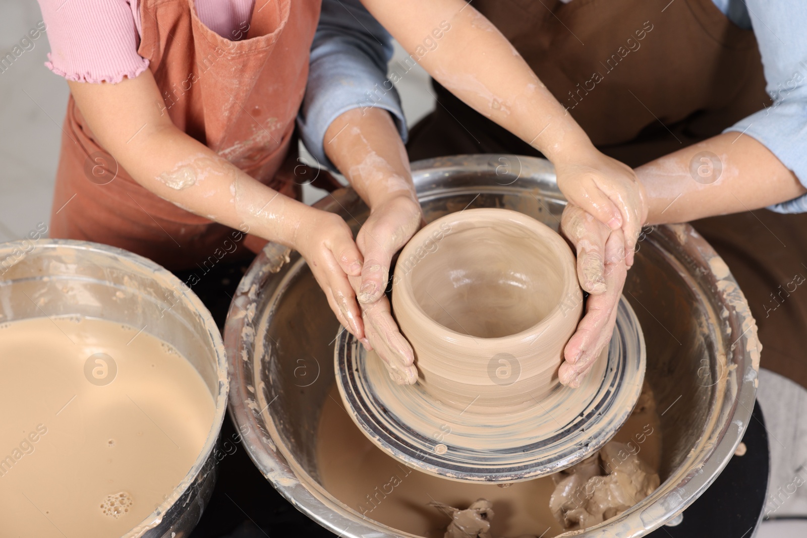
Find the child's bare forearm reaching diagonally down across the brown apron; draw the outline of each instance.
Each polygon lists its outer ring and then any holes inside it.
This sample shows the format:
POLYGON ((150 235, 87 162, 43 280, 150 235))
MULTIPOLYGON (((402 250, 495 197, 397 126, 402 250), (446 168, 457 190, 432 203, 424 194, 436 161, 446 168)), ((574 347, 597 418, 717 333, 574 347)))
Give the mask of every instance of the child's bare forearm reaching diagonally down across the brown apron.
POLYGON ((441 85, 550 161, 593 150, 571 115, 470 2, 362 2, 441 85))

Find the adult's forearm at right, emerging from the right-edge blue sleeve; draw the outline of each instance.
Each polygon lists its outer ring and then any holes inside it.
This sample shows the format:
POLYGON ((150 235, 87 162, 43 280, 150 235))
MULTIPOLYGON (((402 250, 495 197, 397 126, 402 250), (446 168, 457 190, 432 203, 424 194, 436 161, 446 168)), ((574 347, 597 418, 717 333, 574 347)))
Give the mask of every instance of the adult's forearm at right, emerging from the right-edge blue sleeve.
POLYGON ((763 144, 728 132, 636 169, 645 186, 647 223, 682 223, 751 211, 807 193, 763 144))

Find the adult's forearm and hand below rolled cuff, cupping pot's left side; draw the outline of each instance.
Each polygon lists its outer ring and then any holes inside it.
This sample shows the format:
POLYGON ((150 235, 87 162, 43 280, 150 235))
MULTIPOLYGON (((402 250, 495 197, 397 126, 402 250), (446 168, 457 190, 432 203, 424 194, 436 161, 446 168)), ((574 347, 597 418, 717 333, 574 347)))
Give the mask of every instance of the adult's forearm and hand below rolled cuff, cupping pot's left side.
POLYGON ((389 113, 373 107, 339 115, 325 140, 328 158, 370 206, 370 217, 356 236, 362 269, 350 277, 362 307, 362 344, 378 352, 395 382, 412 384, 417 380, 415 354, 384 294, 392 256, 423 223, 406 148, 389 113))

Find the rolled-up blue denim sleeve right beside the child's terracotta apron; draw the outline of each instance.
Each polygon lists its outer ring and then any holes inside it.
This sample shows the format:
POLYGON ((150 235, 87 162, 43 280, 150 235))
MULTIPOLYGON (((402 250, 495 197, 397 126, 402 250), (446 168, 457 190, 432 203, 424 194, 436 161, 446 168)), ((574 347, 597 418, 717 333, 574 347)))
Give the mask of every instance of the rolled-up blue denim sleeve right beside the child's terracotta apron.
POLYGON ((303 106, 297 123, 303 144, 320 162, 325 131, 334 119, 353 108, 375 106, 389 111, 401 138, 407 136, 398 92, 387 79, 392 39, 359 0, 324 0, 311 48, 303 106))

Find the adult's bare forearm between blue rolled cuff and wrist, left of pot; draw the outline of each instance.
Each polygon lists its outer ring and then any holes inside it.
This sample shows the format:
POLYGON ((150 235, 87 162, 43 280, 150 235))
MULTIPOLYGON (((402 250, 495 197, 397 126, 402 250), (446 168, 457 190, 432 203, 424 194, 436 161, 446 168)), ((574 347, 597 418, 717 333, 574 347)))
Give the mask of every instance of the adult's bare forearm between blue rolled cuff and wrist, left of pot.
POLYGON ((416 199, 406 148, 386 110, 354 108, 338 116, 324 147, 370 208, 394 196, 416 199))

